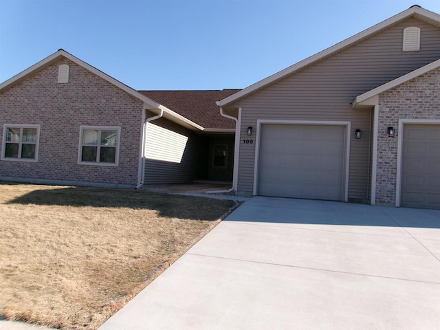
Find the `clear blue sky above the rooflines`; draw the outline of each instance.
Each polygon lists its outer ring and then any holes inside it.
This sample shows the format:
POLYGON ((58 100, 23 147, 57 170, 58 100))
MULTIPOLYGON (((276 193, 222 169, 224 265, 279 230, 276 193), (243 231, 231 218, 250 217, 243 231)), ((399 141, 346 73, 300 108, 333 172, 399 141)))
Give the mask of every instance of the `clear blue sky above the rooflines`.
POLYGON ((0 83, 58 49, 134 89, 244 88, 439 0, 0 0, 0 83))

